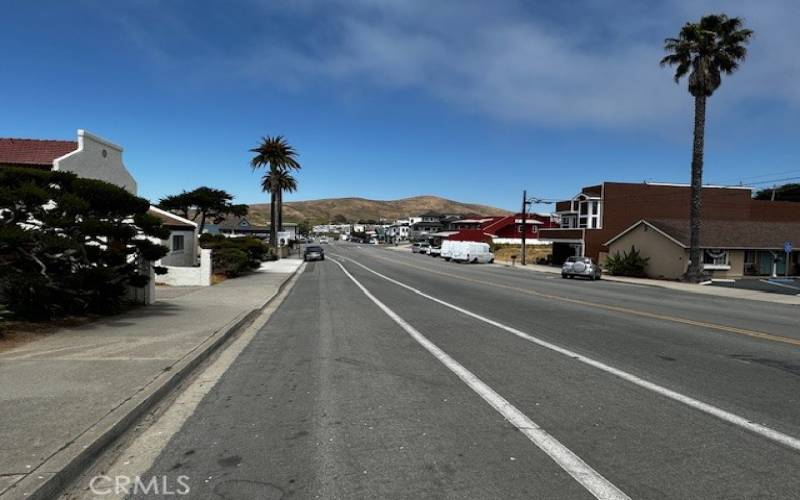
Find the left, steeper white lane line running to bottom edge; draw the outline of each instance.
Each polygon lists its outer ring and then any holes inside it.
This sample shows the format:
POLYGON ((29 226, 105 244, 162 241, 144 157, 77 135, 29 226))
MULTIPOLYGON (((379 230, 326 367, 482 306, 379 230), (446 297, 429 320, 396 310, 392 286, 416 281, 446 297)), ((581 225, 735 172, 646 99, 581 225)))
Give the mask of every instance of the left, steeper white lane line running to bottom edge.
POLYGON ((614 486, 610 481, 604 478, 596 470, 592 469, 586 462, 579 456, 572 452, 569 448, 561 444, 556 438, 547 433, 544 429, 539 427, 535 422, 528 418, 524 413, 519 411, 514 405, 509 403, 503 396, 496 393, 491 387, 486 385, 475 374, 464 368, 458 361, 451 358, 446 352, 441 350, 436 344, 427 339, 413 326, 408 324, 403 318, 397 315, 393 310, 389 309, 386 304, 377 299, 364 285, 350 274, 347 269, 337 260, 331 259, 335 262, 344 272, 344 274, 356 284, 358 288, 364 292, 372 302, 375 303, 387 316, 392 318, 395 323, 406 331, 414 340, 416 340, 422 347, 430 352, 436 359, 452 371, 458 378, 460 378, 470 389, 478 393, 489 405, 497 410, 506 420, 508 420, 514 427, 520 430, 525 436, 530 439, 533 444, 538 446, 542 451, 547 453, 562 469, 564 469, 570 476, 575 478, 586 490, 589 491, 596 498, 601 499, 630 499, 628 495, 623 493, 620 489, 614 486))

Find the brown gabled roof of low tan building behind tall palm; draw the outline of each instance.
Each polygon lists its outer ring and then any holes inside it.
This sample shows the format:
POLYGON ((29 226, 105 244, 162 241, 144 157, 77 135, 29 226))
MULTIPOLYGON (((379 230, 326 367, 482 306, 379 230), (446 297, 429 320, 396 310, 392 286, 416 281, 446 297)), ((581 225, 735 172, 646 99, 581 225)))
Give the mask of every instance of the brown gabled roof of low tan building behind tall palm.
MULTIPOLYGON (((647 225, 676 245, 689 248, 688 219, 640 220, 621 232, 613 243, 640 225, 647 225)), ((800 222, 762 222, 741 220, 704 220, 700 230, 702 248, 782 250, 783 244, 800 243, 800 222)))

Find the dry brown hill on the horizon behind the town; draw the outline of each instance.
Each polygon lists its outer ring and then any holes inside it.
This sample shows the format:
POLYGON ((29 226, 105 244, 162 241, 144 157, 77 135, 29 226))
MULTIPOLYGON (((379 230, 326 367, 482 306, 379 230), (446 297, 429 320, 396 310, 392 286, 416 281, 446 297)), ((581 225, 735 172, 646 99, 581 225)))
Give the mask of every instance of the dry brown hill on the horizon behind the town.
MULTIPOLYGON (((365 198, 330 198, 324 200, 292 201, 283 204, 283 218, 287 222, 303 220, 312 223, 333 221, 344 217, 348 222, 358 220, 402 219, 425 212, 458 215, 506 215, 508 210, 461 203, 438 196, 414 196, 401 200, 367 200, 365 198)), ((263 223, 269 219, 269 204, 250 205, 253 222, 263 223)))

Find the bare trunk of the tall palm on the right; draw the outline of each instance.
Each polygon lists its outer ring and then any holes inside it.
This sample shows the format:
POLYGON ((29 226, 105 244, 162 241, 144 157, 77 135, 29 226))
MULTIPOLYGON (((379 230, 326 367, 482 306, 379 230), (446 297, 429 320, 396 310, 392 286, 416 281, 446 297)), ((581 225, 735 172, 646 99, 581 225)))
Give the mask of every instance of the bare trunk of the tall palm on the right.
POLYGON ((706 96, 694 98, 694 145, 692 149, 692 188, 689 211, 689 269, 686 280, 697 283, 703 275, 703 258, 700 250, 700 212, 703 189, 703 146, 706 128, 706 96))

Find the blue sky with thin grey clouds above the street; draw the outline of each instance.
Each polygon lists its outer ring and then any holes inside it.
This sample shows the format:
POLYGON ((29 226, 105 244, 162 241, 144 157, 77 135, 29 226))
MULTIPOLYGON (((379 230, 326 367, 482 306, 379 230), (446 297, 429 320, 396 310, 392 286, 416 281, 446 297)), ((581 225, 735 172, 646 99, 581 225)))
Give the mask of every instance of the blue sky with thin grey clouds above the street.
MULTIPOLYGON (((688 180, 692 103, 663 39, 745 18, 709 104, 708 182, 800 176, 796 0, 243 0, 3 5, 0 136, 125 147, 140 195, 262 202, 248 149, 299 150, 287 200, 434 194, 514 209, 603 180, 688 180)), ((538 207, 547 209, 547 207, 538 207)))

